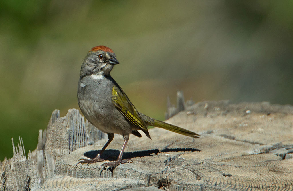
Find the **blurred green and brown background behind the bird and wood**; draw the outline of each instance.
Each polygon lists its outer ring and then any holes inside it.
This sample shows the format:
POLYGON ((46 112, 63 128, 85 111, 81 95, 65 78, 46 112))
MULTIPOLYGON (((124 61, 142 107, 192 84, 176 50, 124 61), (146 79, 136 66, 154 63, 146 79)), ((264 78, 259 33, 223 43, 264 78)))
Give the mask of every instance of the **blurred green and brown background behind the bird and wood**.
POLYGON ((77 104, 94 46, 140 112, 164 120, 166 97, 293 104, 293 1, 12 1, 0 3, 0 160, 37 146, 54 109, 77 104))

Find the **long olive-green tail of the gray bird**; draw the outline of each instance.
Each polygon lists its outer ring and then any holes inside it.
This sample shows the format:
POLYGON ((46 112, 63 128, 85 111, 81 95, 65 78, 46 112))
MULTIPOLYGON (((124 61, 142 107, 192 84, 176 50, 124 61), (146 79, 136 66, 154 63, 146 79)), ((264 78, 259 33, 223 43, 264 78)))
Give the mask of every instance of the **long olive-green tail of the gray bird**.
POLYGON ((155 119, 153 119, 149 116, 146 116, 142 113, 140 113, 140 114, 141 114, 144 122, 147 125, 154 126, 154 127, 160 127, 160 128, 166 129, 168 131, 173 131, 175 133, 183 134, 183 135, 186 135, 189 137, 200 138, 200 135, 195 132, 189 131, 187 129, 183 129, 183 128, 175 126, 175 125, 171 125, 169 123, 165 123, 163 121, 155 120, 155 119))

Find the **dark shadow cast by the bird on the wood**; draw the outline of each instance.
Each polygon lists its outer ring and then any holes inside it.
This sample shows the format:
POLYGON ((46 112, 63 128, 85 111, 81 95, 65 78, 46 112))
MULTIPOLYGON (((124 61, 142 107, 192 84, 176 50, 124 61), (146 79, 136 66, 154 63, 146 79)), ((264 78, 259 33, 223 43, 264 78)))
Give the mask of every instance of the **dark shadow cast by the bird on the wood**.
MULTIPOLYGON (((153 156, 157 155, 158 153, 167 153, 167 152, 178 152, 178 151, 201 151, 199 149, 194 148, 166 148, 161 151, 159 149, 150 149, 150 150, 144 150, 144 151, 134 151, 134 152, 124 152, 122 159, 131 159, 135 157, 144 157, 144 156, 153 156)), ((84 156, 87 158, 95 158, 97 154, 99 154, 100 150, 92 150, 87 151, 84 153, 84 156)), ((101 155, 101 158, 108 160, 108 161, 115 161, 117 157, 119 156, 120 151, 115 149, 107 149, 103 152, 101 155)))

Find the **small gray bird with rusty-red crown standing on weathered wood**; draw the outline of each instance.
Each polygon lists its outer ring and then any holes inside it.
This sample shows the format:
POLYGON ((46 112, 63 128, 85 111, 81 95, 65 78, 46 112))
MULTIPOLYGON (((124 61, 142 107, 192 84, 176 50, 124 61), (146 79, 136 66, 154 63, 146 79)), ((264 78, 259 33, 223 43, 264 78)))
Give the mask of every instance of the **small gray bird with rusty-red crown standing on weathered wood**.
MULTIPOLYGON (((141 130, 151 139, 148 126, 160 127, 189 137, 199 138, 200 135, 153 119, 137 111, 126 93, 110 75, 117 64, 116 55, 109 47, 93 47, 86 55, 80 70, 77 89, 79 108, 88 122, 108 135, 108 141, 95 158, 79 159, 81 164, 105 161, 101 154, 114 138, 114 134, 123 137, 123 145, 116 161, 103 163, 101 166, 115 168, 121 163, 133 162, 131 159, 122 160, 124 149, 130 134, 142 137, 141 130)), ((77 165, 76 164, 76 165, 77 165)))

